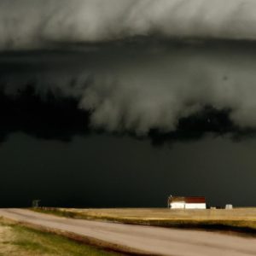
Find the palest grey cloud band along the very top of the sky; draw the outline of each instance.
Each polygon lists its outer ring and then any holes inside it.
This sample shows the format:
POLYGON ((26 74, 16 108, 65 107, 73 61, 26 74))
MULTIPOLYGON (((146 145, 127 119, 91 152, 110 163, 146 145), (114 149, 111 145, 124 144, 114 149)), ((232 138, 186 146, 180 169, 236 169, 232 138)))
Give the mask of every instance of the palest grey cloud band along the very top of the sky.
POLYGON ((253 0, 1 0, 0 47, 49 47, 158 33, 255 39, 253 0))

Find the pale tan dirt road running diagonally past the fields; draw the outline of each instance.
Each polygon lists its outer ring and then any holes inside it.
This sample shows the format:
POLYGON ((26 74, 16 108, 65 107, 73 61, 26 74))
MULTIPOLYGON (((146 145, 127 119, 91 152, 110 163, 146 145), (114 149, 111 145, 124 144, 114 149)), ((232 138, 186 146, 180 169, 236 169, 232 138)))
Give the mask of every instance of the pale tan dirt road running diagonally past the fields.
POLYGON ((0 216, 50 230, 67 231, 110 245, 129 247, 149 255, 256 255, 255 237, 60 218, 23 209, 0 209, 0 216))

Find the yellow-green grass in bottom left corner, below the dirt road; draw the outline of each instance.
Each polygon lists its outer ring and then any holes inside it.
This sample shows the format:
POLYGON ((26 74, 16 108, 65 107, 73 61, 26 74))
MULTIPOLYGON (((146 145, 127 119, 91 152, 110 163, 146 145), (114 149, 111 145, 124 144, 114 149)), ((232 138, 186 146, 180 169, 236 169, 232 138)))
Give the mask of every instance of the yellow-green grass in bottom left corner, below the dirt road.
POLYGON ((0 218, 0 256, 111 256, 65 237, 26 228, 0 218))

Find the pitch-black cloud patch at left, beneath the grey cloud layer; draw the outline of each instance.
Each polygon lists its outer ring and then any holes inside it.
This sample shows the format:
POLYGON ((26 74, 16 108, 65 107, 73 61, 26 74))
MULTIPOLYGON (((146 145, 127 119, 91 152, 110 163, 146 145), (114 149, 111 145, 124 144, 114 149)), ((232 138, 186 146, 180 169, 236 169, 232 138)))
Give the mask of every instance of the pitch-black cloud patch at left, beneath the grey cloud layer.
POLYGON ((63 142, 89 132, 89 114, 77 108, 76 100, 50 92, 42 98, 31 85, 16 96, 5 96, 1 91, 0 116, 0 143, 15 131, 63 142))

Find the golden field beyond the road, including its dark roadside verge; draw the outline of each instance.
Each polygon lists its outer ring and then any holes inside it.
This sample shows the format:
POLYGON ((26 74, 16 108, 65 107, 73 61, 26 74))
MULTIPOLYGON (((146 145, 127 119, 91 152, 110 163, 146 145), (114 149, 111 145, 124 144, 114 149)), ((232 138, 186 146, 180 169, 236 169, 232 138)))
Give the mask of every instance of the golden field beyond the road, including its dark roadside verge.
POLYGON ((167 208, 67 209, 43 207, 36 211, 68 218, 107 220, 125 224, 235 230, 256 234, 256 208, 170 210, 167 208))

